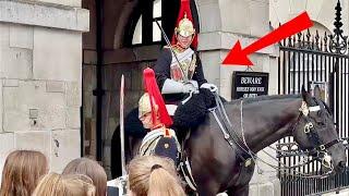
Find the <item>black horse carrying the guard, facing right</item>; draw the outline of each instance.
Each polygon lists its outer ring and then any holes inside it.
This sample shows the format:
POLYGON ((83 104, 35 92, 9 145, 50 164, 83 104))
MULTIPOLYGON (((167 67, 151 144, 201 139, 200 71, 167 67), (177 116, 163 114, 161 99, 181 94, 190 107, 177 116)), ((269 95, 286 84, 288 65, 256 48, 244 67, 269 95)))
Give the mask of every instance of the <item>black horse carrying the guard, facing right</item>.
MULTIPOLYGON (((244 137, 253 154, 282 137, 293 136, 303 150, 326 151, 332 157, 334 172, 344 171, 347 160, 345 147, 338 139, 327 106, 318 99, 318 96, 312 97, 302 89, 302 96, 239 99, 225 103, 225 108, 238 135, 236 139, 240 138, 241 142, 244 137), (308 115, 300 112, 302 102, 311 107, 308 115), (310 123, 313 126, 310 126, 310 123)), ((128 137, 127 159, 135 155, 140 140, 128 137)), ((243 152, 238 143, 229 145, 212 113, 207 114, 204 123, 191 131, 184 150, 191 161, 198 195, 212 196, 225 191, 228 195, 249 195, 249 182, 253 175, 254 164, 249 167, 244 164, 243 157, 248 157, 248 154, 243 152)), ((115 132, 112 139, 113 175, 120 174, 118 145, 119 130, 115 132)))

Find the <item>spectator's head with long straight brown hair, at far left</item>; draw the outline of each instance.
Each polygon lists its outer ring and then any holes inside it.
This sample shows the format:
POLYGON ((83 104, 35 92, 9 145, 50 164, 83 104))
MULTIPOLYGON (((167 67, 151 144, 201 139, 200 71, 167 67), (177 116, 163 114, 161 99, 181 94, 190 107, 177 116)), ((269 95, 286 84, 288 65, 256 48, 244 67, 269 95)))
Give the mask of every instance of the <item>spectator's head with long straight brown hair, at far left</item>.
POLYGON ((12 151, 2 170, 1 196, 31 196, 39 177, 48 172, 44 154, 33 150, 12 151))

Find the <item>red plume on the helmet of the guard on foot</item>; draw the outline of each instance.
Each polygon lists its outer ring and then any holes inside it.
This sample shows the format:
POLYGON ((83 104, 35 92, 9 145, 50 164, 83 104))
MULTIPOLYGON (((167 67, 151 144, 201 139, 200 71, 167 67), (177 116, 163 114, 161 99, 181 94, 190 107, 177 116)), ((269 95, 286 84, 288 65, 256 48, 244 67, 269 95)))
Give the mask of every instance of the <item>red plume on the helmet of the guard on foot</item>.
POLYGON ((143 71, 143 78, 145 90, 148 93, 151 99, 153 123, 158 114, 163 124, 165 124, 167 127, 172 125, 172 119, 167 112, 165 101, 155 79, 154 71, 149 68, 145 69, 143 71), (158 106, 158 113, 156 113, 154 105, 158 106))

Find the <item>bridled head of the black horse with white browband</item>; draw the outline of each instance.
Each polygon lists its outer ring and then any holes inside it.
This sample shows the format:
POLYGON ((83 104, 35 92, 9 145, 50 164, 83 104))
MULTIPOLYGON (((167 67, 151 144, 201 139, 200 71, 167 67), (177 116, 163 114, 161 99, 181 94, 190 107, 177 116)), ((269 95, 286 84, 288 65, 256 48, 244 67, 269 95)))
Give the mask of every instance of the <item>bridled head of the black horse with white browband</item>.
POLYGON ((312 97, 303 87, 302 97, 301 113, 293 130, 296 142, 302 150, 316 157, 325 171, 344 171, 346 150, 328 107, 320 99, 320 91, 312 97))

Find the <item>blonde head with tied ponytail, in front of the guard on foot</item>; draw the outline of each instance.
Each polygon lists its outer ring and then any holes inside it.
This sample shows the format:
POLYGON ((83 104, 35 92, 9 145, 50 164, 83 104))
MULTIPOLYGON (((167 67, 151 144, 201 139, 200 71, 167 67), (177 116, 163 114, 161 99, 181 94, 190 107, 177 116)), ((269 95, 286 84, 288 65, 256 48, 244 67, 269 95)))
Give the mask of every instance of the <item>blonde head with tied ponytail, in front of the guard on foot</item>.
POLYGON ((129 164, 129 185, 136 196, 184 196, 173 161, 157 156, 142 156, 129 164))

